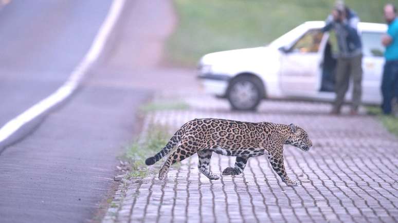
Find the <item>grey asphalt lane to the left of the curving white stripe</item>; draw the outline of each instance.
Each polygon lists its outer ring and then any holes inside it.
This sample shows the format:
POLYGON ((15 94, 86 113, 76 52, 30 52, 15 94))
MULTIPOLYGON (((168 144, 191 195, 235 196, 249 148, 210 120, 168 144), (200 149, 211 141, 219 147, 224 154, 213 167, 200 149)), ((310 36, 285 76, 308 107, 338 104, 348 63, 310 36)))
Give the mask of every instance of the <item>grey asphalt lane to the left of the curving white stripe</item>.
POLYGON ((13 1, 0 11, 0 126, 65 82, 110 3, 13 1))

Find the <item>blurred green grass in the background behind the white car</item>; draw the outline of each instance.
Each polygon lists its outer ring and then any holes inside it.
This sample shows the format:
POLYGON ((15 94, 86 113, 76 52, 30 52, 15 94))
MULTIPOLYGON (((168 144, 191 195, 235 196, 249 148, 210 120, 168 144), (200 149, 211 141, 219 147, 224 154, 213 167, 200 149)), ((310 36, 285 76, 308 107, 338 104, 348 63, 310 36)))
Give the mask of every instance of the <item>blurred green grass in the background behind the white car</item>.
MULTIPOLYGON (((206 53, 263 46, 305 21, 324 21, 333 0, 174 0, 178 25, 167 59, 195 66, 206 53)), ((346 0, 363 22, 384 23, 383 6, 398 0, 346 0)))

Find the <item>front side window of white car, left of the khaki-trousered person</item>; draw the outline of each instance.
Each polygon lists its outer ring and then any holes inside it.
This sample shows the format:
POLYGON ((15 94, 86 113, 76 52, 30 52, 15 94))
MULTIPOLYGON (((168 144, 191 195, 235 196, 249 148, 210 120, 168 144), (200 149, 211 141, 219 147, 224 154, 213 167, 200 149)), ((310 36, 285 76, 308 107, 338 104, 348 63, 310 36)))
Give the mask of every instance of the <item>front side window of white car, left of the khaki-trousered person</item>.
POLYGON ((292 52, 316 53, 322 40, 323 33, 320 30, 309 30, 293 45, 292 52))

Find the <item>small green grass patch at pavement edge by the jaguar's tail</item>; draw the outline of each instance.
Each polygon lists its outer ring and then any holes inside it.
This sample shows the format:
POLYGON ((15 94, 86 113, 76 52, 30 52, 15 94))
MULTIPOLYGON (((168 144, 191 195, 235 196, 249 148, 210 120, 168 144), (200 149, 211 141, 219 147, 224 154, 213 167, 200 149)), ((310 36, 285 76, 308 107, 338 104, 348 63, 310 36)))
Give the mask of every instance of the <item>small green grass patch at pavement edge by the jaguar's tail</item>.
POLYGON ((171 134, 168 128, 161 125, 151 125, 143 139, 135 140, 128 148, 125 158, 132 166, 129 177, 144 177, 148 174, 145 159, 153 156, 166 146, 171 134))

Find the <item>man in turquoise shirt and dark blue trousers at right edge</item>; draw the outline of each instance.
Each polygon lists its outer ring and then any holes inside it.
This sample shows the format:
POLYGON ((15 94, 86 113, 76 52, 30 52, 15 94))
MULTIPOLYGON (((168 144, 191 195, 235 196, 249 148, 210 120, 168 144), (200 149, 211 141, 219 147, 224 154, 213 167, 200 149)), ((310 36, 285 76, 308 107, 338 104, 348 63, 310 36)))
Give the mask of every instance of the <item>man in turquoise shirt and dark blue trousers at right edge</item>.
POLYGON ((384 57, 382 94, 382 109, 384 114, 391 114, 391 102, 393 97, 398 100, 398 18, 396 8, 387 4, 384 7, 384 17, 388 24, 387 34, 382 37, 382 44, 386 47, 384 57))

